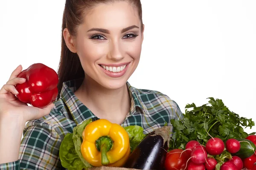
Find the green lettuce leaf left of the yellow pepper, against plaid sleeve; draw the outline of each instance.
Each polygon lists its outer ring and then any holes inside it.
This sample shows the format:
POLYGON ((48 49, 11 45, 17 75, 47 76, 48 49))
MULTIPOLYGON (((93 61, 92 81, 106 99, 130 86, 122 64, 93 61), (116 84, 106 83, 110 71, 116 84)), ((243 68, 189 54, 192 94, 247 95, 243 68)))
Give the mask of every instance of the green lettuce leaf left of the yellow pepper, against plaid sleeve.
POLYGON ((76 153, 73 142, 73 133, 68 133, 61 142, 59 156, 61 165, 68 170, 82 170, 87 168, 76 153))

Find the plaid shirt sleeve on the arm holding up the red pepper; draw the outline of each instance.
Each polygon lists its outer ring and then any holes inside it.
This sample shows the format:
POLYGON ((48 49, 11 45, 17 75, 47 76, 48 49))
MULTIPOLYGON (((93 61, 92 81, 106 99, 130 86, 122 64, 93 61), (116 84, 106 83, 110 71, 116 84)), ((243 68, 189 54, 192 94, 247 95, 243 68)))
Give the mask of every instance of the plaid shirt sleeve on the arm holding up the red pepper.
POLYGON ((61 139, 49 124, 40 120, 28 122, 20 144, 19 160, 0 164, 2 170, 59 170, 61 139))

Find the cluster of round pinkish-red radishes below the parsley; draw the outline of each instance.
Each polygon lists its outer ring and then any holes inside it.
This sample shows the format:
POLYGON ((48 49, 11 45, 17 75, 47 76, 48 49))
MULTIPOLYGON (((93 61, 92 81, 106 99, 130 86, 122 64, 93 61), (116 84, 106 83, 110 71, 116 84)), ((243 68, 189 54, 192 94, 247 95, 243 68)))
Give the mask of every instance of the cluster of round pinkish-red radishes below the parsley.
MULTIPOLYGON (((185 150, 189 156, 186 162, 185 169, 187 170, 215 170, 218 162, 214 156, 220 155, 225 149, 224 142, 219 138, 211 138, 206 145, 201 145, 198 141, 189 141, 186 144, 185 150)), ((226 142, 226 149, 229 153, 236 153, 240 149, 240 143, 236 139, 228 139, 226 142)), ((243 162, 238 156, 226 162, 222 161, 220 170, 241 170, 243 162)))

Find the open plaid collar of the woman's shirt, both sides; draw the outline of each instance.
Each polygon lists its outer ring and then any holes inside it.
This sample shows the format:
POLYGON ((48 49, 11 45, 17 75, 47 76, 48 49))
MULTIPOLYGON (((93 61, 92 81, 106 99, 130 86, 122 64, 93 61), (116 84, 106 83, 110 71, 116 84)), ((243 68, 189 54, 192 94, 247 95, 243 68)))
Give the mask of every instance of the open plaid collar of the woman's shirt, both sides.
MULTIPOLYGON (((74 94, 77 88, 81 85, 82 81, 83 79, 76 79, 63 82, 60 93, 60 97, 67 105, 67 108, 73 116, 76 125, 81 124, 86 119, 99 119, 74 94)), ((126 85, 131 98, 130 116, 136 113, 136 108, 140 108, 141 111, 145 113, 145 107, 143 107, 143 102, 140 100, 135 88, 132 87, 128 82, 126 82, 126 85)))

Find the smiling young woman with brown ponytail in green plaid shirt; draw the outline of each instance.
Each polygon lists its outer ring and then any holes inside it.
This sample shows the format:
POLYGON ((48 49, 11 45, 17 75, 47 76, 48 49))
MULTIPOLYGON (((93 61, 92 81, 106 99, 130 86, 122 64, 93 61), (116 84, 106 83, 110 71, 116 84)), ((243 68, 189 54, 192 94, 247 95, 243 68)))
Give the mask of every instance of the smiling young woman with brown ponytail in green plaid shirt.
POLYGON ((67 0, 57 101, 43 109, 19 102, 21 66, 0 90, 0 169, 60 169, 61 141, 86 119, 139 125, 144 133, 181 119, 168 96, 127 82, 140 60, 143 31, 140 0, 67 0))

